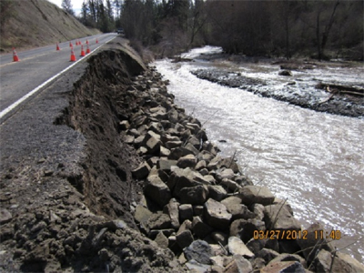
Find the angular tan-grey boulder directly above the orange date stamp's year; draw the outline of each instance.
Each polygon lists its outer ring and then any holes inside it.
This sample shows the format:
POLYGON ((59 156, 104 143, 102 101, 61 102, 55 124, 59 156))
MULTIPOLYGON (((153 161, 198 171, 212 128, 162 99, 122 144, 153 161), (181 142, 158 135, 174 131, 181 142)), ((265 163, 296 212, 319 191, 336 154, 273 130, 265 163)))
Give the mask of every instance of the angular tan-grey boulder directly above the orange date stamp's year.
POLYGON ((298 219, 292 216, 291 209, 288 205, 270 205, 266 206, 264 219, 269 229, 279 230, 301 230, 301 224, 298 219))

